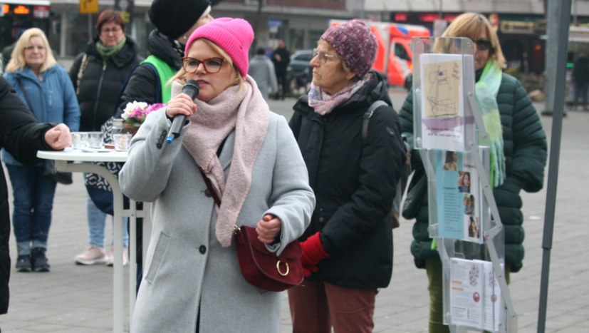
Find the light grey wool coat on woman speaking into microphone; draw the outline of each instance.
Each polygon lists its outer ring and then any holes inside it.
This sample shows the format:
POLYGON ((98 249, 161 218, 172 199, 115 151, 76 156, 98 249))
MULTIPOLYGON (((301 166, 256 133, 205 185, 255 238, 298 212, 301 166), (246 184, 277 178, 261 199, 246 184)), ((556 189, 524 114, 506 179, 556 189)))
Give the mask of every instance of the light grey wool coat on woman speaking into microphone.
MULTIPOLYGON (((217 212, 197 164, 182 145, 186 128, 165 142, 165 109, 150 113, 120 171, 123 193, 152 203, 152 234, 131 332, 280 332, 280 293, 249 285, 234 242, 221 247, 217 212)), ((219 155, 228 174, 234 133, 219 155)), ((278 252, 303 235, 315 206, 305 163, 286 119, 270 114, 238 225, 255 227, 270 213, 282 220, 278 252)))

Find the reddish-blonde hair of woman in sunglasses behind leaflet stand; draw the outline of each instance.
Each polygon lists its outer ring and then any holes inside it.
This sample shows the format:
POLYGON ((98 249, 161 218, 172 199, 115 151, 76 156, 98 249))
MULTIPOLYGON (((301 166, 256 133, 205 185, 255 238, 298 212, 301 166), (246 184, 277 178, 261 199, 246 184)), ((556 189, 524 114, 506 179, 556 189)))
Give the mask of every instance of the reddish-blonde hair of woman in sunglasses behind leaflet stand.
POLYGON ((500 68, 504 68, 506 61, 501 51, 501 44, 499 37, 491 22, 485 16, 476 13, 464 13, 458 16, 452 24, 448 26, 442 37, 468 37, 476 43, 481 34, 485 34, 491 42, 491 49, 489 50, 489 59, 497 61, 500 68))

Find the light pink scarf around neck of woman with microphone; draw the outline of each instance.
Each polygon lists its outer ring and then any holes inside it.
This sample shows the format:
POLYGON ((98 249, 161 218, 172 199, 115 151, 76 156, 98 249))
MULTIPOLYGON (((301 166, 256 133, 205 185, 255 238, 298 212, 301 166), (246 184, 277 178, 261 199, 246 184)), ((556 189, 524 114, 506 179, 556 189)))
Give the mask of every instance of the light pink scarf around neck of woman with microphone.
MULTIPOLYGON (((172 83, 172 96, 181 91, 181 83, 172 83)), ((254 163, 266 138, 270 109, 250 76, 246 76, 243 84, 226 88, 208 103, 199 99, 194 103, 197 112, 189 118, 182 143, 221 198, 216 235, 222 246, 229 247, 233 227, 251 186, 254 163), (225 179, 217 150, 233 130, 234 152, 225 179)))

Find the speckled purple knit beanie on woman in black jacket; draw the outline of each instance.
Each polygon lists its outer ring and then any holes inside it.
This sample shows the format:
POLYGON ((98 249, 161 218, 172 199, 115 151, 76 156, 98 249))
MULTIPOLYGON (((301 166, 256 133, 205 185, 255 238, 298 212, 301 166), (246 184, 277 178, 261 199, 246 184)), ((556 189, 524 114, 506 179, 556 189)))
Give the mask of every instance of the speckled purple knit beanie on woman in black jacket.
POLYGON ((327 41, 360 78, 370 71, 376 58, 376 37, 360 20, 351 20, 327 29, 321 39, 327 41))

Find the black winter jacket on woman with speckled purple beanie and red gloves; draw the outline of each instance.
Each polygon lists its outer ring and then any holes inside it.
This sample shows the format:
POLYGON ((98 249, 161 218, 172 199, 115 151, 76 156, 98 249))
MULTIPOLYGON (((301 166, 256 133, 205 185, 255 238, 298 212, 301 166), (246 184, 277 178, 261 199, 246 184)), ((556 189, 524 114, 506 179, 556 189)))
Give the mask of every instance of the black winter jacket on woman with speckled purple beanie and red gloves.
POLYGON ((392 231, 388 214, 405 154, 400 125, 380 75, 325 116, 295 104, 290 125, 307 165, 316 208, 301 240, 320 231, 330 254, 310 280, 348 288, 387 287, 392 275, 392 231), (363 140, 363 116, 377 100, 363 140))

